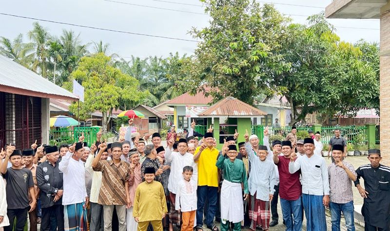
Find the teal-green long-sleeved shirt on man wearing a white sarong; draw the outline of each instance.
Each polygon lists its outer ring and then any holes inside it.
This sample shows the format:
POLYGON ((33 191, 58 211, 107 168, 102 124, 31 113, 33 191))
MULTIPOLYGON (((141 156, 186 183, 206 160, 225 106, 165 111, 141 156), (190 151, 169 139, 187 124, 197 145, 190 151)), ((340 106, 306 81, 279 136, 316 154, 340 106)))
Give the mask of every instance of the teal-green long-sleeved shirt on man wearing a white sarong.
POLYGON ((244 193, 249 194, 247 171, 242 160, 235 159, 232 162, 227 155, 220 155, 215 166, 223 170, 225 180, 232 183, 242 183, 244 185, 244 193))

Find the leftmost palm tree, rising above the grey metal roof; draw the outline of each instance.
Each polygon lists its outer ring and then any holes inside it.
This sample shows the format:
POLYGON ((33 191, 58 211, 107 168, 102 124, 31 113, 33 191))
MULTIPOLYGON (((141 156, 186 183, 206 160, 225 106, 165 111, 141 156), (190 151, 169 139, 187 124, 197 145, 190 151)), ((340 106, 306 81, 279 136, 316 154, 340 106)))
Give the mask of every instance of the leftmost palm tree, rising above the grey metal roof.
POLYGON ((0 54, 30 68, 34 60, 34 44, 23 43, 23 34, 19 34, 12 42, 0 37, 0 54))

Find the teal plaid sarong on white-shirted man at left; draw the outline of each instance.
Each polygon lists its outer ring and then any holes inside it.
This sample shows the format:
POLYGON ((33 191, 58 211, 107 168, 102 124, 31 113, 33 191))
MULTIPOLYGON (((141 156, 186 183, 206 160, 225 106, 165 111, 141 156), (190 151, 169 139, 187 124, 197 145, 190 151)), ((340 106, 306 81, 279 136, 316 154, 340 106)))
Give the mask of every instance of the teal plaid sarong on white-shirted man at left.
POLYGON ((64 206, 64 230, 87 231, 87 210, 85 203, 64 206))

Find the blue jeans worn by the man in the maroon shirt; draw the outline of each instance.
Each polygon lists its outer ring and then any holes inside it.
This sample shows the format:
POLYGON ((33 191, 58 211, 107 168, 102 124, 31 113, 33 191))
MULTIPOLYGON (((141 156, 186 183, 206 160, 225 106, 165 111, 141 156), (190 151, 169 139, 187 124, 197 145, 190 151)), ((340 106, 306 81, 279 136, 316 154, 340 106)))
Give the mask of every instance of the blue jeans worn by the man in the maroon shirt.
POLYGON ((283 220, 286 222, 286 231, 302 230, 302 200, 299 197, 295 201, 280 198, 283 220))

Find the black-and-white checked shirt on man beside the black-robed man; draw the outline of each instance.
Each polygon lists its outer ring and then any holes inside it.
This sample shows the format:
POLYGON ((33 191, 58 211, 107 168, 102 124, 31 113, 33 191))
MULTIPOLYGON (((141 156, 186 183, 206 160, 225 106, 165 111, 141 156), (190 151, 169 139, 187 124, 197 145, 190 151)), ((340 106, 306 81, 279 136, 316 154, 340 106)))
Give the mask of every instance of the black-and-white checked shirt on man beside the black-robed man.
MULTIPOLYGON (((356 176, 356 172, 351 164, 343 161, 343 165, 356 176)), ((346 204, 353 201, 352 181, 348 177, 347 172, 343 168, 331 163, 328 167, 328 174, 330 201, 338 204, 346 204)))

